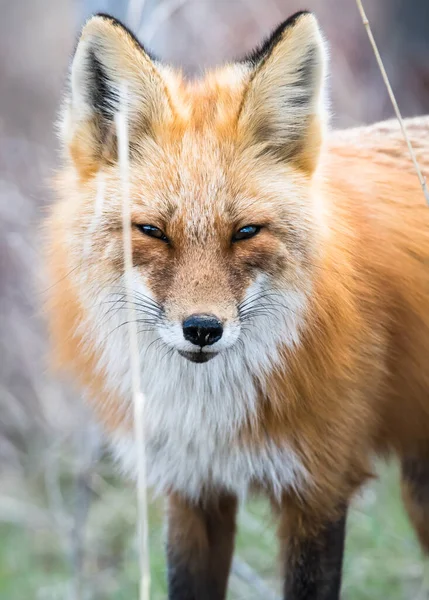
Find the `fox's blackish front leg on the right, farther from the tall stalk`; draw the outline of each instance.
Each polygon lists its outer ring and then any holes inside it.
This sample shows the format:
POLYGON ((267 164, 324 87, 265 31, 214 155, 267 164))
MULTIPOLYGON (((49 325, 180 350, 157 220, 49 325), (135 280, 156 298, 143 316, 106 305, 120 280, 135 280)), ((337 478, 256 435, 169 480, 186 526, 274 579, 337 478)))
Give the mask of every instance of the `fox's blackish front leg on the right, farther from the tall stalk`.
POLYGON ((289 508, 282 507, 280 523, 285 600, 338 600, 346 509, 316 525, 299 509, 289 508))

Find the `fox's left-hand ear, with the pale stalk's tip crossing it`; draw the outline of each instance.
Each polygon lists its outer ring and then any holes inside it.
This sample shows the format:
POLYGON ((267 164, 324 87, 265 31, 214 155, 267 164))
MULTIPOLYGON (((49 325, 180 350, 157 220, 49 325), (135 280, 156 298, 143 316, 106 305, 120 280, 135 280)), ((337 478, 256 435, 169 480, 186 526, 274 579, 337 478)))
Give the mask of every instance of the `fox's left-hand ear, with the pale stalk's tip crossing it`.
MULTIPOLYGON (((107 15, 84 26, 73 58, 61 137, 82 175, 116 160, 114 116, 126 89, 130 147, 171 116, 162 77, 134 36, 107 15)), ((122 105, 121 105, 122 106, 122 105)))

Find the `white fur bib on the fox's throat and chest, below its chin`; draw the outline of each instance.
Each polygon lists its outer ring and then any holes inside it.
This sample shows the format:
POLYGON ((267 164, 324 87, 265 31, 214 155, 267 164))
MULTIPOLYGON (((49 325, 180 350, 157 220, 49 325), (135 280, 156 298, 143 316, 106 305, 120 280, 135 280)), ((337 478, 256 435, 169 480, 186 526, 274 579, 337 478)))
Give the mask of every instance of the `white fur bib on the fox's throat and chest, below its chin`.
MULTIPOLYGON (((289 296, 299 304, 302 298, 289 296)), ((272 322, 263 317, 249 329, 243 344, 205 364, 194 364, 177 352, 156 344, 156 333, 139 339, 142 390, 145 394, 145 440, 148 483, 158 492, 176 490, 197 498, 202 490, 224 488, 243 496, 252 483, 280 494, 287 487, 300 489, 308 474, 287 440, 258 446, 240 442, 239 432, 257 418, 259 389, 279 360, 279 343, 298 343, 298 311, 288 311, 272 322)), ((125 321, 124 316, 117 317, 125 321)), ((106 327, 92 334, 102 349, 100 368, 109 384, 130 403, 128 338, 118 327, 105 344, 106 327), (101 336, 100 336, 101 333, 101 336)), ((99 321, 100 323, 100 321, 99 321)), ((112 331, 112 323, 109 327, 112 331)), ((91 334, 91 332, 90 332, 91 334)), ((94 337, 92 337, 94 339, 94 337)), ((136 471, 132 436, 117 432, 115 455, 125 470, 136 471)))

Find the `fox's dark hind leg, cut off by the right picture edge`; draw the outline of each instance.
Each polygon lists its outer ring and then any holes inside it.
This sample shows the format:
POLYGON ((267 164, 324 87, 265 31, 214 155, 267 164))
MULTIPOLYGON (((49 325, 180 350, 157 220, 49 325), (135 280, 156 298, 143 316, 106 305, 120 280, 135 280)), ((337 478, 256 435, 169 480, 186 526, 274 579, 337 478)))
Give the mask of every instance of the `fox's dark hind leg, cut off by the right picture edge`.
POLYGON ((402 497, 411 523, 429 555, 429 449, 402 459, 402 497))

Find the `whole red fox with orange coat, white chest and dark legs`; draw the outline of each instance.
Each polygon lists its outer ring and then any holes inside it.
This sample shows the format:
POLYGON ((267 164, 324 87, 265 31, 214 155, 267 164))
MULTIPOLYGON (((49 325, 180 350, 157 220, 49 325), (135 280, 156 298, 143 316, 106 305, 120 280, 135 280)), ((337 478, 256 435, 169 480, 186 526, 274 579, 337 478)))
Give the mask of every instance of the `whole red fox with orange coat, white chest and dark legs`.
MULTIPOLYGON (((135 469, 114 116, 126 84, 148 483, 171 600, 225 598, 237 505, 266 494, 288 600, 339 598, 347 507, 396 455, 429 551, 429 210, 396 122, 328 133, 300 12, 185 81, 112 17, 85 25, 47 224, 56 362, 135 469)), ((423 168, 429 118, 409 120, 423 168)))

